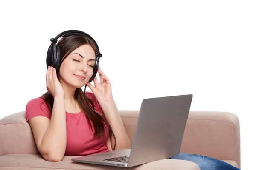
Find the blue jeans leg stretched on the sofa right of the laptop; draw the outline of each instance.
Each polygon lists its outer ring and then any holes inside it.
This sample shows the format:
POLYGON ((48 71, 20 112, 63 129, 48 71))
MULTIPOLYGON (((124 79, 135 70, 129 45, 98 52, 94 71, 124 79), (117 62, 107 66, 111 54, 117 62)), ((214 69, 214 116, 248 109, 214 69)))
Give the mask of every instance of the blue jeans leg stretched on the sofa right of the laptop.
POLYGON ((179 153, 178 156, 171 159, 192 161, 198 164, 201 170, 240 170, 224 161, 196 154, 179 153))

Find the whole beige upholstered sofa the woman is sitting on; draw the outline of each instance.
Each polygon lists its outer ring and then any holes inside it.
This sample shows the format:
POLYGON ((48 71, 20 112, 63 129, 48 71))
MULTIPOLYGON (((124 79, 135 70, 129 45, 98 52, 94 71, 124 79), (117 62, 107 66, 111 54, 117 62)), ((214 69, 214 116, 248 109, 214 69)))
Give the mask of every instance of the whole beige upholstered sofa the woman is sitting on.
MULTIPOLYGON (((119 111, 131 141, 139 111, 119 111)), ((233 113, 190 111, 180 152, 210 156, 240 168, 239 119, 233 113)), ((45 161, 38 152, 25 111, 0 120, 0 170, 200 170, 191 161, 163 159, 136 167, 45 161)))

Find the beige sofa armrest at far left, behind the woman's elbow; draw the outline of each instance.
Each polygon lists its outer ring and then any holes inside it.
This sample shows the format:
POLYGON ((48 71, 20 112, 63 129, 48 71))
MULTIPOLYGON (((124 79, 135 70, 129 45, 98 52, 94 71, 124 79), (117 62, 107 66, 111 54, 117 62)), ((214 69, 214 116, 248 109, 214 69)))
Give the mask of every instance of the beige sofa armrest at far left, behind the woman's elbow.
POLYGON ((0 156, 12 153, 40 154, 25 111, 0 120, 0 156))

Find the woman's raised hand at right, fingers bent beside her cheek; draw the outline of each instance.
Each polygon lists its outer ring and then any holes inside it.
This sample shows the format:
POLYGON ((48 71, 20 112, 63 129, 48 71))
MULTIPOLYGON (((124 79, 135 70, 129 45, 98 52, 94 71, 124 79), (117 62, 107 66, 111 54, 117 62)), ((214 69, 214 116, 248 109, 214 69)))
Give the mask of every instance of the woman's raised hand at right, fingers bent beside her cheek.
POLYGON ((97 77, 93 79, 94 86, 89 82, 86 84, 93 91, 94 96, 98 100, 101 107, 107 104, 107 102, 113 101, 111 84, 108 77, 98 68, 100 83, 97 77))

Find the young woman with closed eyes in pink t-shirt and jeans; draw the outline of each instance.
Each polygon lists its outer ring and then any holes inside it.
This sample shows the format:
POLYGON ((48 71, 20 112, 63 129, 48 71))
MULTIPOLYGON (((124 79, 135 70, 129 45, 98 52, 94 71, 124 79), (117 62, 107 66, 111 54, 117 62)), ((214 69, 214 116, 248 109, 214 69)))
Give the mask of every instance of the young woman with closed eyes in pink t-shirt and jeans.
MULTIPOLYGON (((90 37, 71 35, 58 42, 61 62, 56 71, 48 67, 47 92, 26 105, 29 122, 38 151, 47 161, 61 161, 64 155, 85 156, 131 148, 121 117, 113 100, 111 83, 98 69, 100 79, 93 79, 96 45, 90 37), (81 87, 87 85, 93 93, 81 87), (110 126, 110 127, 109 127, 110 126), (114 136, 116 137, 116 145, 114 136)), ((180 153, 172 159, 193 161, 201 170, 239 170, 207 156, 180 153)))

